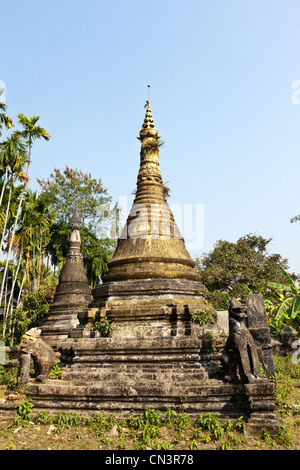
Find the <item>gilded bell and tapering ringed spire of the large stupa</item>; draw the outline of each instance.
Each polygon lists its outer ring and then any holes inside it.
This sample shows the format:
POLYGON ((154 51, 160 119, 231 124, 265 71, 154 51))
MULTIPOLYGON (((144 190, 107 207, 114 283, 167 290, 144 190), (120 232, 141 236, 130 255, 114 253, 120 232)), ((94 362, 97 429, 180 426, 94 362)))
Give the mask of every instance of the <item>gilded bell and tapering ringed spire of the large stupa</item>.
MULTIPOLYGON (((148 91, 150 86, 148 85, 148 91)), ((136 196, 103 282, 126 279, 199 281, 183 238, 168 206, 159 168, 159 138, 152 111, 146 114, 141 141, 136 196)))

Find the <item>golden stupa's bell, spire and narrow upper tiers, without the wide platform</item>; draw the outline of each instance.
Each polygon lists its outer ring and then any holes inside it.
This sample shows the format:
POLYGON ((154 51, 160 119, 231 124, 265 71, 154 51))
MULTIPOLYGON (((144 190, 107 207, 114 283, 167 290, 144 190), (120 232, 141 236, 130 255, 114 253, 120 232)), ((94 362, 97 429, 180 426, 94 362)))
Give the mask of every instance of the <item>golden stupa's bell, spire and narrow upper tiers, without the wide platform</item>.
POLYGON ((167 203, 160 136, 149 101, 146 107, 135 199, 103 283, 93 290, 93 307, 114 322, 113 336, 170 336, 206 305, 205 287, 167 203))

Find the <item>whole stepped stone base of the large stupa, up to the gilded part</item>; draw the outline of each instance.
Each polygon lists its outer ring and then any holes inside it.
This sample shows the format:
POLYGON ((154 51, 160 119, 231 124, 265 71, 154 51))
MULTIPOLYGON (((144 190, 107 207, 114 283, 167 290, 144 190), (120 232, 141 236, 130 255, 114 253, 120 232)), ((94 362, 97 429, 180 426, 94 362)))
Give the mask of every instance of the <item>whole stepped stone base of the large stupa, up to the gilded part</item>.
POLYGON ((212 413, 221 421, 243 416, 248 432, 276 432, 274 384, 268 379, 225 382, 220 365, 227 338, 224 331, 217 323, 200 326, 191 321, 184 307, 188 299, 177 299, 177 303, 173 299, 170 310, 159 309, 162 302, 166 300, 140 301, 138 321, 133 319, 133 304, 131 311, 125 309, 123 318, 117 319, 112 307, 120 311, 120 301, 108 302, 114 326, 110 337, 101 337, 93 327, 92 318, 98 318, 99 309, 83 311, 80 337, 57 344, 61 380, 37 383, 30 379, 27 384, 34 412, 57 415, 65 411, 87 417, 103 410, 128 417, 146 408, 173 409, 193 417, 212 413), (175 307, 176 320, 172 317, 175 307), (160 314, 147 318, 147 309, 148 314, 155 309, 160 314))

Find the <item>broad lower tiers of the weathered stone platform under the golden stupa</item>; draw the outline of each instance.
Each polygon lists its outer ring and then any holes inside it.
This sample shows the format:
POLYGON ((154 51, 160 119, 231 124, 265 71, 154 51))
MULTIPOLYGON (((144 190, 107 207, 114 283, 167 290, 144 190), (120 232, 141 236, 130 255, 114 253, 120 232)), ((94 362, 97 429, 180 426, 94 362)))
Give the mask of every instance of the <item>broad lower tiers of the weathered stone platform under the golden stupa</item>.
MULTIPOLYGON (((26 393, 36 411, 96 415, 101 409, 127 417, 145 408, 210 412, 219 419, 244 416, 247 429, 276 430, 274 384, 268 379, 226 383, 219 368, 222 338, 68 339, 61 345, 61 380, 37 384, 26 393), (219 378, 217 378, 219 376, 219 378)), ((224 340, 223 340, 224 343, 224 340)))

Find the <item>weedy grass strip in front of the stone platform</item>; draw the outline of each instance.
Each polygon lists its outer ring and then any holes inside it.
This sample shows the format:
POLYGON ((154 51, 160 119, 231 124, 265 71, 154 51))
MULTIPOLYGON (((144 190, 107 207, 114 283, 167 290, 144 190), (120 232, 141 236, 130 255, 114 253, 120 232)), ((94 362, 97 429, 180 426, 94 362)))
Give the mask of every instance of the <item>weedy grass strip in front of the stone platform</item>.
MULTIPOLYGON (((24 400, 15 420, 0 428, 0 450, 293 450, 300 449, 300 366, 291 358, 274 357, 277 414, 283 428, 272 435, 247 435, 243 419, 220 423, 216 416, 202 414, 191 419, 184 412, 162 413, 147 409, 128 419, 94 418, 60 413, 32 416, 24 400)), ((2 374, 2 383, 4 380, 2 374)), ((6 384, 1 386, 2 391, 6 384)))

